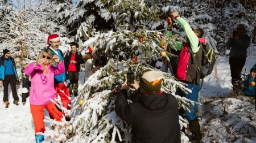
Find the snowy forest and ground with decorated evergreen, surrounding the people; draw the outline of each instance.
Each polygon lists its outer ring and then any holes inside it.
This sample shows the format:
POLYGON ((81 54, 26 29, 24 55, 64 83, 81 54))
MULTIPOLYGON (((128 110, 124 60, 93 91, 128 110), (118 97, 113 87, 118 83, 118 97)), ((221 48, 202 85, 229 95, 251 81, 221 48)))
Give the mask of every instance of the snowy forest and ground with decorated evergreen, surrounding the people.
MULTIPOLYGON (((0 53, 8 49, 15 59, 18 94, 24 68, 47 47, 49 34, 59 34, 64 55, 71 50, 69 43, 76 42, 82 55, 90 46, 94 60, 102 56, 108 59, 104 67, 88 78, 84 75, 85 64, 81 65, 79 95, 71 98, 71 121, 57 123, 46 114, 43 142, 131 142, 131 125, 115 114, 115 96, 127 72, 131 70, 139 80, 145 69, 160 70, 161 45, 184 41, 185 32, 177 22, 172 29, 174 34, 167 36, 168 11, 178 12, 191 27, 202 28, 208 45, 217 55, 217 75, 207 76, 201 89, 202 141, 256 142, 255 101, 253 97, 230 92, 230 49, 226 47, 232 31, 238 24, 244 24, 251 44, 242 72, 249 73, 256 63, 255 0, 0 0, 0 53), (53 129, 51 124, 57 127, 53 129)), ((179 108, 191 109, 189 103, 194 102, 175 94, 177 90, 189 92, 187 85, 170 73, 164 73, 161 90, 175 96, 179 108)), ((135 90, 128 93, 129 102, 137 99, 135 90)), ((0 107, 0 116, 0 142, 35 141, 29 103, 10 105, 9 109, 0 107), (5 127, 7 122, 12 123, 10 127, 5 127)), ((179 123, 181 128, 188 128, 188 121, 181 116, 179 123)), ((191 142, 191 134, 180 134, 181 142, 191 142)))

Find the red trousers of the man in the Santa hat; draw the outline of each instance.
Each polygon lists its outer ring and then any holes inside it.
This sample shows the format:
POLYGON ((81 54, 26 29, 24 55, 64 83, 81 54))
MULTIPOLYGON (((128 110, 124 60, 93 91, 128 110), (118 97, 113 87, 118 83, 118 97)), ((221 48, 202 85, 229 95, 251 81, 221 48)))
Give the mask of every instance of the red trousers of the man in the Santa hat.
POLYGON ((69 107, 68 105, 71 105, 71 97, 68 87, 64 83, 61 83, 55 84, 54 89, 56 90, 56 97, 58 96, 58 94, 60 96, 62 106, 65 107, 67 110, 70 110, 71 107, 69 107))

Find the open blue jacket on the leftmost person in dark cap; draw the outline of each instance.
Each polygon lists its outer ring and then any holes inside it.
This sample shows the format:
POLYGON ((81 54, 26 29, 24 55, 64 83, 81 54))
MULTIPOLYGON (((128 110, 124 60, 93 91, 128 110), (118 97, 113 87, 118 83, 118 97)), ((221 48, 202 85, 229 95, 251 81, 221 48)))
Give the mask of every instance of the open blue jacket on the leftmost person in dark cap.
MULTIPOLYGON (((15 61, 13 57, 10 57, 11 60, 11 67, 13 68, 13 71, 15 73, 16 79, 18 80, 18 74, 16 71, 16 66, 15 66, 15 61)), ((2 57, 0 57, 0 80, 5 80, 5 56, 2 55, 2 57)))

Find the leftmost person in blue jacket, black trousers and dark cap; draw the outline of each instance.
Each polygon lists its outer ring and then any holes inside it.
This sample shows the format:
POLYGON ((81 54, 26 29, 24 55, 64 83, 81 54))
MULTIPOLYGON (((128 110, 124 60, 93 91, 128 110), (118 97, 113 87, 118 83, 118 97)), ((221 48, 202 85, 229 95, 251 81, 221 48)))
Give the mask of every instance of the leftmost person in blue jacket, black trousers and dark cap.
POLYGON ((3 55, 0 57, 0 86, 3 85, 3 102, 5 107, 9 107, 8 86, 11 85, 13 92, 13 103, 19 105, 19 97, 16 90, 16 81, 18 81, 18 74, 16 71, 14 58, 11 57, 10 50, 3 50, 3 55))

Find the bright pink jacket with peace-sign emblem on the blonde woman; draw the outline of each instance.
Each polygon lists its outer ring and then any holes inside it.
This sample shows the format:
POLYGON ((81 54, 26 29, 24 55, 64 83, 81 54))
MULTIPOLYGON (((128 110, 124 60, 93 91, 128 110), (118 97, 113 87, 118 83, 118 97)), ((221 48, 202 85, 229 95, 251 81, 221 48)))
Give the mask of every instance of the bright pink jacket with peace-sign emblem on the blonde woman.
POLYGON ((50 99, 56 98, 54 89, 54 76, 65 72, 64 63, 57 67, 48 65, 49 72, 43 73, 42 65, 34 66, 34 62, 24 69, 26 75, 31 76, 30 104, 46 105, 50 99))

